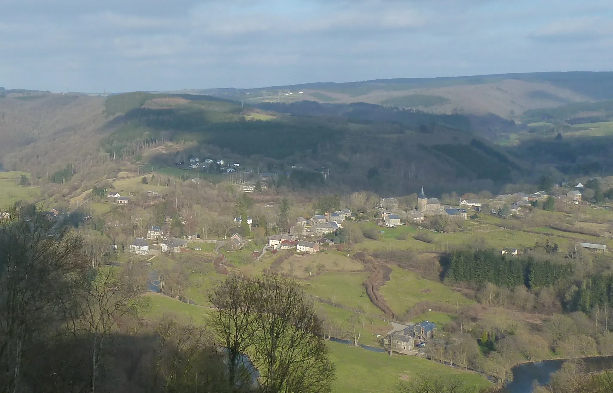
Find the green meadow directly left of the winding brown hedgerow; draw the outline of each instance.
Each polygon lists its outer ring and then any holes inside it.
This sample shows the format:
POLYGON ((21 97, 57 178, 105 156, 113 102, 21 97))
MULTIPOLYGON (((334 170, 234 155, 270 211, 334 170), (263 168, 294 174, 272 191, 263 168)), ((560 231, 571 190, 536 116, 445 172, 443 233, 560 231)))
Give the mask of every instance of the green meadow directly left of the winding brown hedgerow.
POLYGON ((305 281, 303 286, 308 294, 364 310, 371 314, 383 315, 381 310, 370 302, 366 290, 362 286, 362 282, 367 277, 367 272, 323 273, 305 281))

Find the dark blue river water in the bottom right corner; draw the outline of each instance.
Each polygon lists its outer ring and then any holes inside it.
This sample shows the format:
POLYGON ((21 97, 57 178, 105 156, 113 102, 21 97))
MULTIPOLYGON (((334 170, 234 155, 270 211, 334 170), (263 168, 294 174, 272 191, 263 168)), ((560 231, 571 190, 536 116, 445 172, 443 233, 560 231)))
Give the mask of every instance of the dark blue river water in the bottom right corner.
MULTIPOLYGON (((584 372, 596 372, 613 368, 613 356, 586 357, 581 359, 584 372)), ((511 369, 513 381, 506 386, 509 393, 532 393, 535 381, 548 384, 551 375, 562 368, 563 360, 524 363, 511 369)))

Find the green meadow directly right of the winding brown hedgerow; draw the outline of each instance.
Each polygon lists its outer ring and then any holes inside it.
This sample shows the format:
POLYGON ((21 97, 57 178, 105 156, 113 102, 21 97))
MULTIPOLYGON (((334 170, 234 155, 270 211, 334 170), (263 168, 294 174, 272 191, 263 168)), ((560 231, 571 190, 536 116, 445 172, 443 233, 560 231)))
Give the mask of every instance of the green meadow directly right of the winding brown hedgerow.
POLYGON ((453 305, 473 303, 443 283, 422 279, 417 274, 400 268, 392 268, 390 280, 379 290, 389 307, 397 314, 422 301, 453 305))

